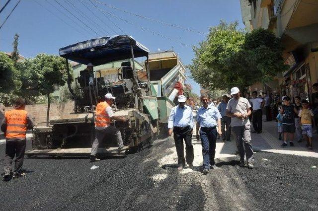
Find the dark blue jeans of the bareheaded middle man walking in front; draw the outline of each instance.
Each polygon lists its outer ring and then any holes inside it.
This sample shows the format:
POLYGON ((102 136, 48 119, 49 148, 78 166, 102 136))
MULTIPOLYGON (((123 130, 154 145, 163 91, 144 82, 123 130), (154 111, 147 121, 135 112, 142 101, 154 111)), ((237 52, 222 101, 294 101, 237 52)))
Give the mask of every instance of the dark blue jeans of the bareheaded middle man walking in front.
POLYGON ((217 141, 217 129, 200 129, 200 138, 202 144, 202 155, 203 155, 203 169, 210 168, 211 165, 215 164, 215 147, 217 141))

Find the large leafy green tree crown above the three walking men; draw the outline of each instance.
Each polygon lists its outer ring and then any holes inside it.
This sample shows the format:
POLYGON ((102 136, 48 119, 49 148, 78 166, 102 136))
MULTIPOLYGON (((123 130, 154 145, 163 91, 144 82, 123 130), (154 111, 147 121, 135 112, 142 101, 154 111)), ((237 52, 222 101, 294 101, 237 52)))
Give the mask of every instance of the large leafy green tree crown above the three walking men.
POLYGON ((207 40, 193 47, 195 57, 188 68, 193 79, 204 88, 243 89, 287 70, 282 58, 283 46, 272 32, 257 29, 244 34, 237 27, 237 22, 221 21, 210 29, 207 40))

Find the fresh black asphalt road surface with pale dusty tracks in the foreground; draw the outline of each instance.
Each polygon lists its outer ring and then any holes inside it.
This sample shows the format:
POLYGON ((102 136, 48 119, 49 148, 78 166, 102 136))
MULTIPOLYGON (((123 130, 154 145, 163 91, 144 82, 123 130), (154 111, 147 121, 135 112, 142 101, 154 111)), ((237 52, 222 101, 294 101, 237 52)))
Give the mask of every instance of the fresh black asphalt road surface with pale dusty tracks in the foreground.
POLYGON ((26 157, 26 176, 0 182, 0 210, 318 210, 318 170, 311 168, 318 158, 257 152, 253 170, 240 168, 234 157, 202 175, 199 167, 179 173, 173 163, 159 163, 173 146, 157 140, 125 158, 95 163, 26 157), (155 175, 165 176, 155 181, 155 175))

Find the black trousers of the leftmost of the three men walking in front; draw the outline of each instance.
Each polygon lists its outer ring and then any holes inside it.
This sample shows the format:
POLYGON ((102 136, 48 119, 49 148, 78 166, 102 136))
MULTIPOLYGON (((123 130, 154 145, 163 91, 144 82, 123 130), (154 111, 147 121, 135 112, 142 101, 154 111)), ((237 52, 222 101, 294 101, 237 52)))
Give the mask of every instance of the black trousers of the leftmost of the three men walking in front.
POLYGON ((192 145, 192 129, 190 126, 179 128, 173 128, 173 138, 175 143, 175 148, 178 155, 178 165, 185 165, 185 161, 192 165, 194 154, 192 145), (184 149, 183 140, 185 142, 185 159, 184 159, 184 149))

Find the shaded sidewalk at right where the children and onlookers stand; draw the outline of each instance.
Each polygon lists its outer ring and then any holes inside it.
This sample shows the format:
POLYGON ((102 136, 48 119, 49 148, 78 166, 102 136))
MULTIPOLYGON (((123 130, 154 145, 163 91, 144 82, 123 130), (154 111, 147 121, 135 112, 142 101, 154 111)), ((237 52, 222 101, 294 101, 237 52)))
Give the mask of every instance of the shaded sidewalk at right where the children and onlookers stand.
MULTIPOLYGON (((265 116, 263 116, 264 121, 265 116)), ((251 126, 251 131, 253 127, 251 126)), ((318 157, 318 135, 313 134, 313 146, 314 149, 310 150, 306 147, 306 141, 298 143, 296 138, 294 140, 294 147, 282 147, 282 141, 278 140, 277 122, 274 120, 271 122, 263 122, 263 132, 261 134, 251 133, 252 146, 255 151, 266 151, 281 154, 293 154, 307 157, 318 157)), ((296 137, 296 136, 295 136, 296 137)))

